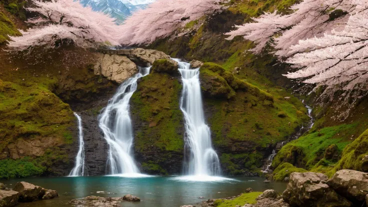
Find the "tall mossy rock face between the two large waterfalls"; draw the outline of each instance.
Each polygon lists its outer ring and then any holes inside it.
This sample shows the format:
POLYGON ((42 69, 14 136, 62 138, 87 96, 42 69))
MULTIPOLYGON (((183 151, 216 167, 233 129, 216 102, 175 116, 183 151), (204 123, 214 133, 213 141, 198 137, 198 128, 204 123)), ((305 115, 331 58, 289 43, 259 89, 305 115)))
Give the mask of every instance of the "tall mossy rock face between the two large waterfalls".
POLYGON ((153 72, 142 77, 131 97, 135 158, 144 172, 181 172, 184 120, 180 93, 178 79, 165 72, 153 72))

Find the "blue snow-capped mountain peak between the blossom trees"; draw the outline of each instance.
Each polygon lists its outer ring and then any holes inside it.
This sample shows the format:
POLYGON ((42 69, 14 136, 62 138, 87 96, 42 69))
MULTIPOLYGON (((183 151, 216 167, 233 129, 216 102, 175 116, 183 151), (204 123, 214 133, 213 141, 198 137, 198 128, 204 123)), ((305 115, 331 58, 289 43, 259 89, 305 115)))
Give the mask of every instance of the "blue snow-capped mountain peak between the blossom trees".
POLYGON ((144 8, 155 0, 80 0, 84 6, 90 6, 95 11, 102 11, 116 18, 118 22, 137 9, 144 8))

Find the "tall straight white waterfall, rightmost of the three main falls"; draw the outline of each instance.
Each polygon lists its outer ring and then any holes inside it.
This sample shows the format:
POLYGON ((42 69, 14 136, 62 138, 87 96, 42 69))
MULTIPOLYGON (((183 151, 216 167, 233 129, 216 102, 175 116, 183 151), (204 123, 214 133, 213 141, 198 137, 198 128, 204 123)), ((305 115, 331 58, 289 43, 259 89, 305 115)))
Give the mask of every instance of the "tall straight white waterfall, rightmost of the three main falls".
POLYGON ((212 148, 210 129, 204 121, 199 83, 199 68, 190 69, 190 64, 178 62, 183 89, 180 109, 185 118, 185 151, 189 151, 186 174, 211 176, 220 174, 220 164, 212 148))

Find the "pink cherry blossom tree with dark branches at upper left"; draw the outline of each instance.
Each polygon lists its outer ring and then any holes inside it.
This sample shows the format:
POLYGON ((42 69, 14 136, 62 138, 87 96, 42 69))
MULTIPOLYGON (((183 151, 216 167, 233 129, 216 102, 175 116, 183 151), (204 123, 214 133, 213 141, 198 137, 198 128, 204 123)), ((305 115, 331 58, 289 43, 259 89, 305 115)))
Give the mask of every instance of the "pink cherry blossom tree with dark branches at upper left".
POLYGON ((44 45, 54 47, 57 40, 67 39, 82 47, 96 43, 117 44, 119 26, 113 18, 102 12, 83 7, 74 0, 33 1, 35 7, 26 8, 37 12, 39 18, 30 19, 33 27, 21 31, 22 36, 10 37, 8 46, 12 50, 24 50, 44 45))

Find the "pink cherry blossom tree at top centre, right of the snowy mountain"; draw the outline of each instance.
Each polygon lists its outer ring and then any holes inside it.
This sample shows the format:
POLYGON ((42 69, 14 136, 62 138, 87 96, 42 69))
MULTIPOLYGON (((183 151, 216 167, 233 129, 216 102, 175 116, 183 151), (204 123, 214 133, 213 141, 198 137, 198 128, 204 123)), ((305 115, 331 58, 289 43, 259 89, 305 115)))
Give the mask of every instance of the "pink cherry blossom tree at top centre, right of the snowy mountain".
POLYGON ((221 0, 157 0, 134 12, 122 25, 120 43, 148 44, 167 37, 191 20, 221 10, 221 0))

